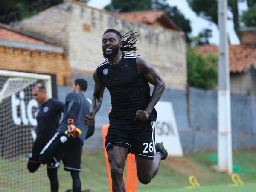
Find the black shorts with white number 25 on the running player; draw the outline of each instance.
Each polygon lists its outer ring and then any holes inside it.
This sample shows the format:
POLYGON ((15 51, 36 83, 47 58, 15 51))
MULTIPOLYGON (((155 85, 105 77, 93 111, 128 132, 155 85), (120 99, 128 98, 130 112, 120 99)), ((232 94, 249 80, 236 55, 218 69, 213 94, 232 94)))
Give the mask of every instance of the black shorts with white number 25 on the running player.
POLYGON ((130 152, 136 156, 153 159, 155 154, 154 122, 110 124, 106 135, 106 150, 116 145, 129 148, 130 152))

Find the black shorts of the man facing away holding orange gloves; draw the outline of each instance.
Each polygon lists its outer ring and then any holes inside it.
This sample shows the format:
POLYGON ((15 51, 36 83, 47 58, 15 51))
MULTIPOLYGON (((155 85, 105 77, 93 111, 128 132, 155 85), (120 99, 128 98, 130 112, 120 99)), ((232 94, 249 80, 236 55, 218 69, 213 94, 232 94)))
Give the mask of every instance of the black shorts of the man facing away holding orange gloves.
POLYGON ((54 151, 53 158, 57 161, 62 160, 64 170, 80 172, 83 142, 79 139, 79 137, 70 137, 69 140, 61 143, 60 138, 64 135, 64 133, 57 132, 49 143, 47 143, 46 147, 44 148, 44 152, 42 151, 41 153, 47 154, 47 150, 52 150, 52 148, 55 148, 55 146, 58 145, 57 150, 54 151))

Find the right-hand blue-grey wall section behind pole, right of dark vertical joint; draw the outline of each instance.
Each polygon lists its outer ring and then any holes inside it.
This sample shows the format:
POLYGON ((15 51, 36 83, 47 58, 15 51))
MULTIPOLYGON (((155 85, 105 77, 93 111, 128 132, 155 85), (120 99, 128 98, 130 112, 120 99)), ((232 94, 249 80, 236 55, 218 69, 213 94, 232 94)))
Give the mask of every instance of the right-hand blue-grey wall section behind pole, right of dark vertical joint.
MULTIPOLYGON (((190 151, 217 150, 218 96, 216 91, 189 89, 190 125, 193 134, 190 151)), ((256 147, 255 106, 251 96, 231 94, 233 150, 256 147)))

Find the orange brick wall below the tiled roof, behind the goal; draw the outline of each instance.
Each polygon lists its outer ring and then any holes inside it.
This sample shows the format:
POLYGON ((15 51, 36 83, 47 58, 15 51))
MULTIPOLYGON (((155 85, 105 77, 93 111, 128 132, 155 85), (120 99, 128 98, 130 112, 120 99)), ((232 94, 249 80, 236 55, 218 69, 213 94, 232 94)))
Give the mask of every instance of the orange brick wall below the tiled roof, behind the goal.
POLYGON ((59 86, 63 86, 70 76, 67 55, 14 47, 0 46, 0 68, 56 74, 59 86))

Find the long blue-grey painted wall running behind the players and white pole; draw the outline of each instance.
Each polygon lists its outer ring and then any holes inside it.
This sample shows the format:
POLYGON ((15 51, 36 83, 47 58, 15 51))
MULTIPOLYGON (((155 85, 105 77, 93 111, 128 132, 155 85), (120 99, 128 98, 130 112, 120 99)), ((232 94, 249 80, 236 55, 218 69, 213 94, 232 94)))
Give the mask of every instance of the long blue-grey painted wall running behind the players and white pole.
MULTIPOLYGON (((94 82, 88 82, 86 95, 92 98, 94 82)), ((71 87, 58 87, 58 96, 64 102, 71 87)), ((166 89, 161 101, 172 102, 175 120, 184 153, 216 151, 218 142, 218 98, 214 90, 189 88, 189 92, 166 89)), ((233 150, 256 148, 256 105, 251 96, 231 94, 231 123, 233 150)), ((96 114, 96 132, 86 140, 85 148, 102 148, 102 126, 108 124, 108 111, 111 108, 108 90, 105 90, 102 107, 96 114)))

